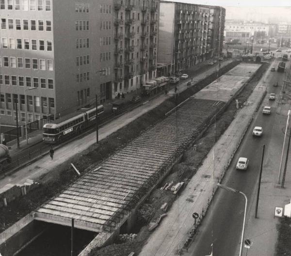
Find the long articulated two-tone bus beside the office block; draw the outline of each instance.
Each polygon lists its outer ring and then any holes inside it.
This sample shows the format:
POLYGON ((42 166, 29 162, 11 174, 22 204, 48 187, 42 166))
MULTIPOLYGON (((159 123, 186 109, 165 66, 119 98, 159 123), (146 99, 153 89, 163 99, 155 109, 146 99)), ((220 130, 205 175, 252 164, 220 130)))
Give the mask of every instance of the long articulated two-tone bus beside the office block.
MULTIPOLYGON (((104 112, 103 105, 97 107, 97 117, 104 112)), ((57 144, 65 139, 81 133, 82 130, 96 123, 96 107, 81 109, 77 113, 70 113, 54 123, 43 126, 43 141, 49 144, 57 144)))

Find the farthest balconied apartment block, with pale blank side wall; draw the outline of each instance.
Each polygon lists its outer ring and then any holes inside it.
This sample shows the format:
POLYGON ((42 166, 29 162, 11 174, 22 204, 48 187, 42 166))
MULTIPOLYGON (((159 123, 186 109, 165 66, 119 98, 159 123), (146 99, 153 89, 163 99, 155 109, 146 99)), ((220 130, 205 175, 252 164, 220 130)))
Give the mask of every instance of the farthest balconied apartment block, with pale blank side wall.
POLYGON ((225 9, 160 2, 159 75, 184 71, 222 52, 225 9), (163 66, 167 64, 167 68, 163 66))

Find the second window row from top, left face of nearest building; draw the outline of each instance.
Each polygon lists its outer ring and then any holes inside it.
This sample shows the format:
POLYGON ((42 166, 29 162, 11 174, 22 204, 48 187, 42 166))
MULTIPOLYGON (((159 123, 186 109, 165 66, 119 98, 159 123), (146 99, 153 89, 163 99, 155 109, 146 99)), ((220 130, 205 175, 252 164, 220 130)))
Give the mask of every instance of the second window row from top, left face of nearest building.
POLYGON ((31 31, 51 31, 51 21, 46 20, 44 21, 43 19, 35 20, 35 19, 6 19, 6 18, 1 18, 1 29, 9 29, 13 30, 14 28, 16 30, 31 30, 31 31), (21 26, 22 25, 22 26, 21 26))

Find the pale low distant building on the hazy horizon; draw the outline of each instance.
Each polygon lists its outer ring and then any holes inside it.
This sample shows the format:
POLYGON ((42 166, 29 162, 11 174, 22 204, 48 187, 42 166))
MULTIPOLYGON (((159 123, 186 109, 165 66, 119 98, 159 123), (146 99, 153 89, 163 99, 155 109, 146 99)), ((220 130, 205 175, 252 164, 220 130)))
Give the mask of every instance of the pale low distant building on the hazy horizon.
POLYGON ((226 20, 224 36, 226 41, 237 39, 242 43, 248 43, 251 37, 255 37, 257 40, 269 37, 269 30, 270 25, 261 22, 226 20))

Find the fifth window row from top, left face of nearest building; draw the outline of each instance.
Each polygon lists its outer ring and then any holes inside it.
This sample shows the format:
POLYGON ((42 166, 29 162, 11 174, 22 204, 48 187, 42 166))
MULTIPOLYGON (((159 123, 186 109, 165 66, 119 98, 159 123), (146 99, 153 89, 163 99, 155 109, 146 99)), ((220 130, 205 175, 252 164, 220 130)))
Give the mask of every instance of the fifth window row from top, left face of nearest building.
POLYGON ((23 76, 10 76, 10 75, 0 75, 0 85, 14 85, 14 86, 26 86, 26 87, 35 87, 43 89, 53 89, 53 79, 46 78, 31 78, 23 76), (33 86, 32 86, 33 85, 33 86))

